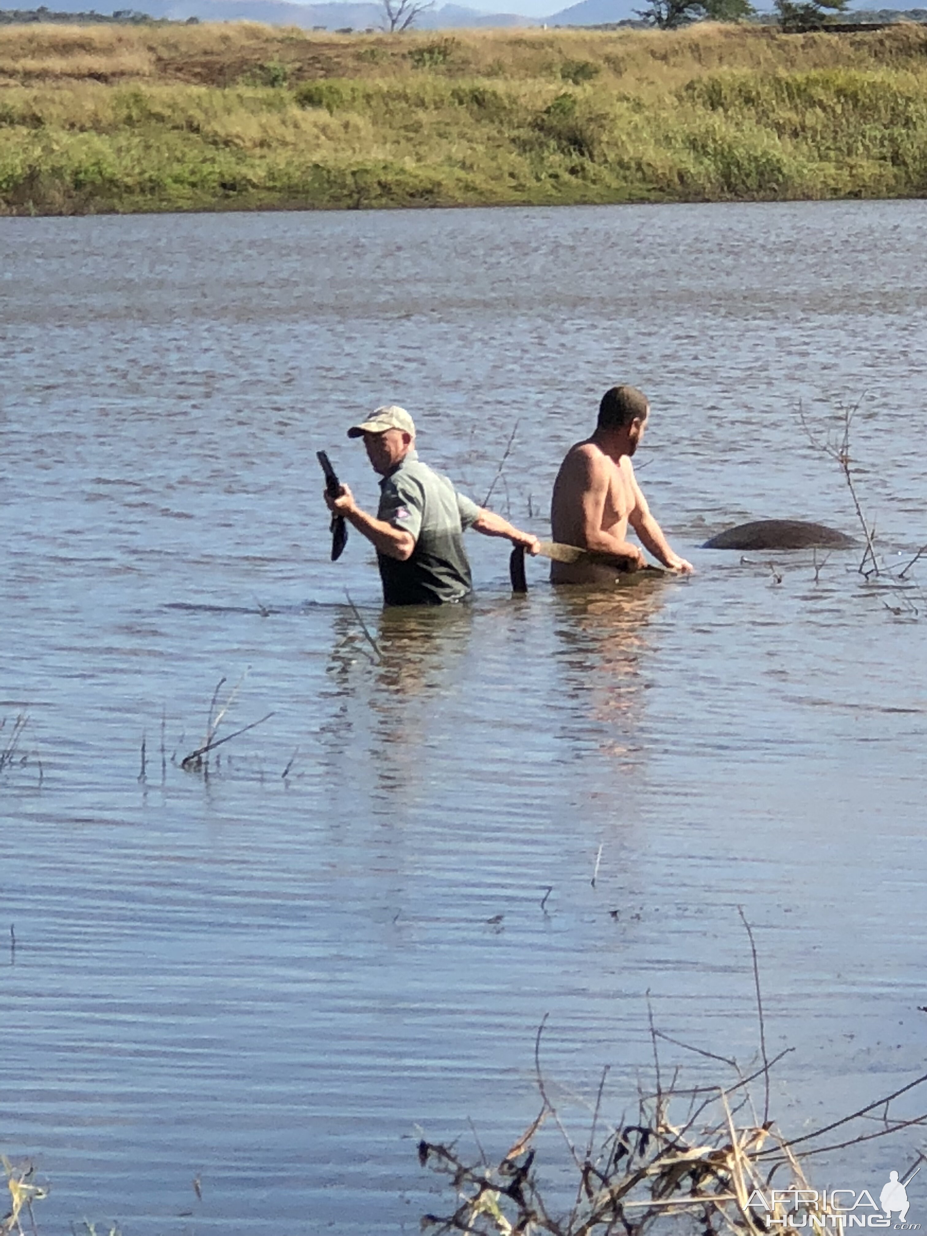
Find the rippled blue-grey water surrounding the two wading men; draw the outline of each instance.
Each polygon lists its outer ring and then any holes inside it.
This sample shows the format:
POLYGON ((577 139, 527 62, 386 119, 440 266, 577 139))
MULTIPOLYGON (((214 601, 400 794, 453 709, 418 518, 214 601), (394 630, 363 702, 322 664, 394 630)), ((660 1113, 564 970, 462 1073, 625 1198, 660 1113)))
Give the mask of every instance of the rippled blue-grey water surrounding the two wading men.
POLYGON ((886 552, 927 540, 922 232, 921 203, 0 220, 0 1151, 52 1182, 42 1231, 417 1231, 419 1131, 510 1145, 545 1012, 552 1083, 611 1062, 616 1109, 646 991, 751 1057, 738 905, 789 1128, 922 1072, 927 617, 854 554, 816 582, 697 549, 853 530, 796 409, 860 398, 886 552), (513 599, 471 536, 475 606, 381 614, 360 538, 328 561, 314 452, 372 503, 358 410, 408 407, 477 501, 518 421, 493 501, 543 533, 616 381, 691 581, 530 562, 513 599), (273 716, 183 771, 242 676, 221 733, 273 716))

